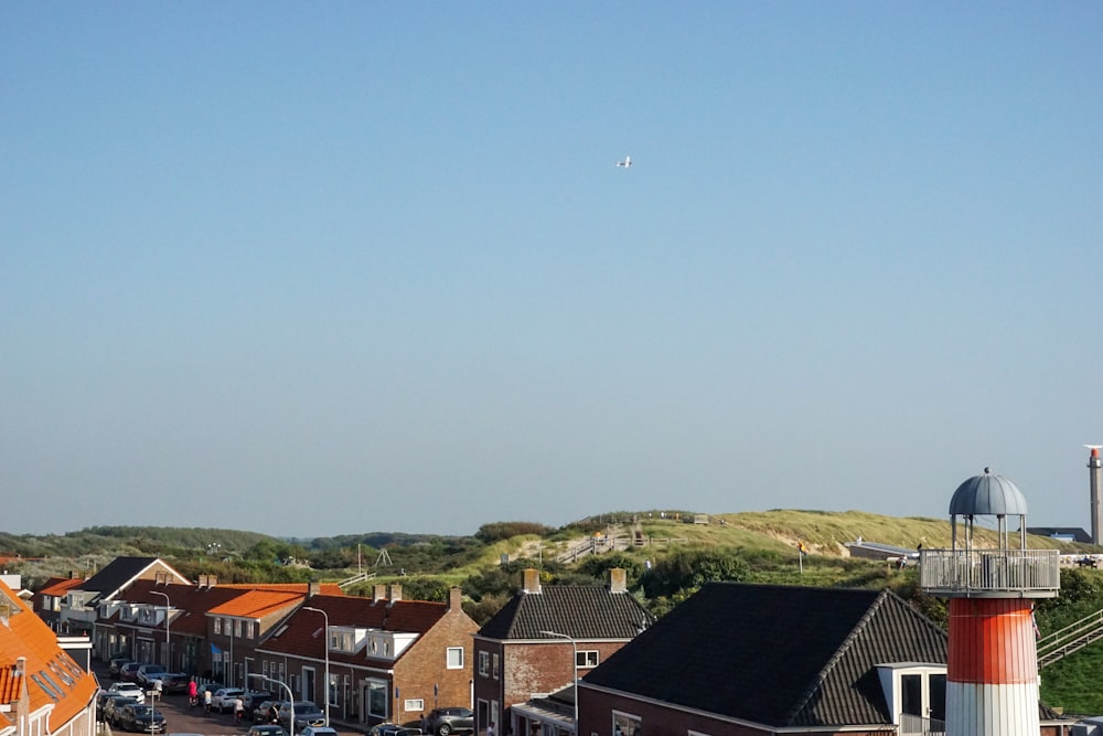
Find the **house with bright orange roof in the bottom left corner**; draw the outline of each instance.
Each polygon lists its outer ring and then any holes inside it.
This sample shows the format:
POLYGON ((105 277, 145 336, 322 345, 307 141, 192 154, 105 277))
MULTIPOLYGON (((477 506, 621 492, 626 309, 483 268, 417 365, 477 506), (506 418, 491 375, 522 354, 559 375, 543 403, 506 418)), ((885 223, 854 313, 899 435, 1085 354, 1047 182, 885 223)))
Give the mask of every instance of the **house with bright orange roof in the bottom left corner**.
POLYGON ((95 736, 96 678, 0 582, 0 736, 95 736))

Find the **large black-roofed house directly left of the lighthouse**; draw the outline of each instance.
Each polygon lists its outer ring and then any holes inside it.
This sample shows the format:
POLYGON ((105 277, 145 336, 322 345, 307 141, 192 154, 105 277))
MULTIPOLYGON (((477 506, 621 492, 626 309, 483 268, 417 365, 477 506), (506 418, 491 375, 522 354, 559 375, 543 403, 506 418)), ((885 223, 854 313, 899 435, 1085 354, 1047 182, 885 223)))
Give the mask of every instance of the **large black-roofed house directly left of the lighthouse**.
POLYGON ((946 651, 889 590, 713 583, 582 680, 579 733, 934 733, 946 651))

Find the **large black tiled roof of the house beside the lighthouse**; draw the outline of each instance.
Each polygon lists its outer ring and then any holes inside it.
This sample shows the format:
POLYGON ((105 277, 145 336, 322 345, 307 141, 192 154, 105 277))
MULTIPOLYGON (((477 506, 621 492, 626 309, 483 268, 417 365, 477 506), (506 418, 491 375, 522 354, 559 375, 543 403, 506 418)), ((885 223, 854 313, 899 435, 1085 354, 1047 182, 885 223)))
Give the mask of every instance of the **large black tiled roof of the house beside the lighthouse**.
POLYGON ((774 727, 885 724, 874 665, 945 663, 946 640, 888 590, 714 583, 583 682, 774 727))

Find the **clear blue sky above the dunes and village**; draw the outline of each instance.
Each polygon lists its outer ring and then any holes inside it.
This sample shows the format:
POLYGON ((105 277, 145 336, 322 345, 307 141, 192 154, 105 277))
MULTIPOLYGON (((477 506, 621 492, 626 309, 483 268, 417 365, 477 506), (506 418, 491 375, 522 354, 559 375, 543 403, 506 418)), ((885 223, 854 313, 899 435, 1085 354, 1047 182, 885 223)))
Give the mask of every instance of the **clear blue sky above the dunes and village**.
POLYGON ((1103 4, 0 6, 0 529, 1090 529, 1103 4), (631 168, 615 162, 631 156, 631 168))

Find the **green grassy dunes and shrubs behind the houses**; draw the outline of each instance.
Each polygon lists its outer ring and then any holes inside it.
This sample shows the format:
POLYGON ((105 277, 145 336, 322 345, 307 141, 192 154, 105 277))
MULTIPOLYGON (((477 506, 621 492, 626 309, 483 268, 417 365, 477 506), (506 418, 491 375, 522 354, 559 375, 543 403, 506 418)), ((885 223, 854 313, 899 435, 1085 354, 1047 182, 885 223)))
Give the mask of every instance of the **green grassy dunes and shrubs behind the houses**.
MULTIPOLYGON (((374 577, 347 593, 372 596, 374 586, 397 583, 404 598, 439 601, 447 600, 452 586, 460 586, 464 610, 484 622, 516 593, 527 567, 540 570, 543 585, 604 585, 617 567, 625 570, 629 589, 656 616, 707 583, 729 580, 889 588, 946 625, 946 601, 922 594, 914 568, 852 558, 846 544, 860 536, 907 548, 949 547, 949 521, 779 509, 687 523, 694 516, 682 510, 613 512, 560 529, 494 522, 472 536, 374 532, 313 540, 216 529, 96 526, 64 535, 0 533, 0 554, 24 558, 8 567, 21 573, 31 589, 51 576, 92 574, 117 556, 156 555, 191 579, 216 575, 225 583, 336 582, 366 572, 374 577), (571 545, 609 535, 627 535, 634 543, 575 562, 557 559, 571 545), (811 551, 808 556, 801 557, 799 543, 811 551)), ((974 543, 996 546, 995 532, 978 529, 974 543)), ((1031 536, 1027 544, 1096 552, 1049 537, 1031 536)), ((1103 610, 1103 570, 1065 569, 1061 583, 1059 597, 1038 601, 1043 634, 1103 610)), ((1101 678, 1103 646, 1086 647, 1042 671, 1042 700, 1069 713, 1103 712, 1101 678)))

